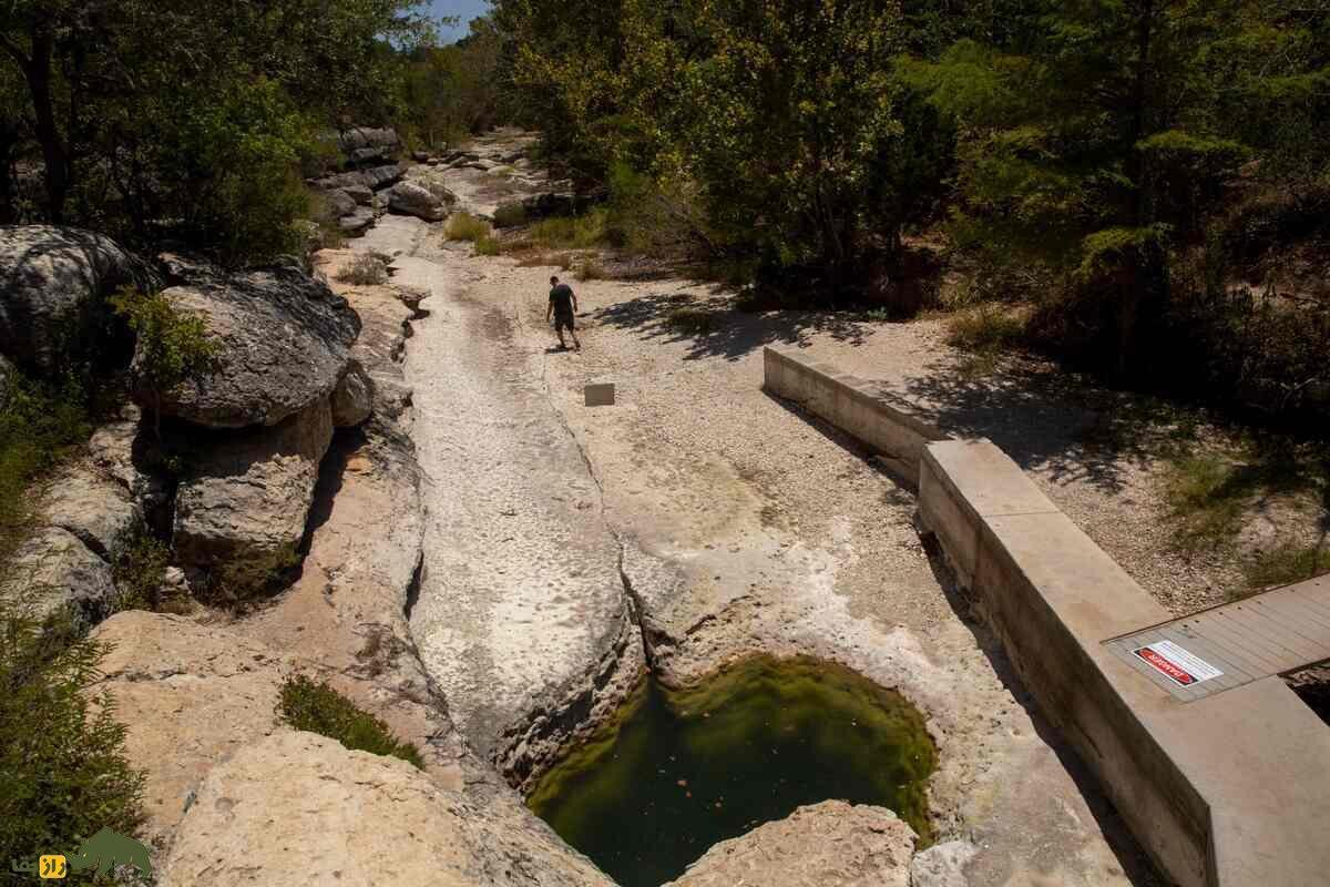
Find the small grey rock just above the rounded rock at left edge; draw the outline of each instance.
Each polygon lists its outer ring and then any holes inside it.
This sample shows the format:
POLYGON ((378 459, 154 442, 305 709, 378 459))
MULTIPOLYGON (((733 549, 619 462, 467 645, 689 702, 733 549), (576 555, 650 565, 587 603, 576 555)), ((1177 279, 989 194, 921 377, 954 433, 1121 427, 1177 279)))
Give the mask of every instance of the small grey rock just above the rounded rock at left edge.
POLYGON ((55 476, 43 512, 51 525, 73 533, 106 560, 120 557, 144 528, 142 505, 88 463, 74 463, 55 476))

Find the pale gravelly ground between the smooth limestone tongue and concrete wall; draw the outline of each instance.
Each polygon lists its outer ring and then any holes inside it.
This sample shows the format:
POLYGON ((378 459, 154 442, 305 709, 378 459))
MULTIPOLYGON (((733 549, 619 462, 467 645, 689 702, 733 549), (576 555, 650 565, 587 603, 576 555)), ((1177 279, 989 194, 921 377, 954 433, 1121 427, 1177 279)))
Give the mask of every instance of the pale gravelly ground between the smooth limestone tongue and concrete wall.
POLYGON ((751 650, 842 661, 928 714, 935 818, 979 844, 972 884, 1154 883, 1000 645, 966 620, 920 545, 912 496, 854 442, 761 391, 758 346, 781 339, 767 322, 700 348, 661 322, 686 283, 575 281, 584 348, 559 351, 544 322, 552 269, 477 257, 466 270, 460 298, 508 318, 508 359, 540 362, 628 541, 648 634, 669 638, 657 674, 692 680, 751 650), (588 382, 614 382, 616 406, 585 407, 588 382))

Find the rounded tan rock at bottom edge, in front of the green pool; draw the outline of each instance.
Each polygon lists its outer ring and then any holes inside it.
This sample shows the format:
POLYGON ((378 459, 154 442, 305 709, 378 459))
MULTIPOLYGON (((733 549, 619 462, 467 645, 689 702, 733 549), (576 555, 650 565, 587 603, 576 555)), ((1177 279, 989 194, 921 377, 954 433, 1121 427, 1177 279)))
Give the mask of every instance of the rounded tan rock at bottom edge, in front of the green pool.
POLYGON ((724 840, 674 887, 910 887, 915 834, 883 807, 826 801, 724 840))

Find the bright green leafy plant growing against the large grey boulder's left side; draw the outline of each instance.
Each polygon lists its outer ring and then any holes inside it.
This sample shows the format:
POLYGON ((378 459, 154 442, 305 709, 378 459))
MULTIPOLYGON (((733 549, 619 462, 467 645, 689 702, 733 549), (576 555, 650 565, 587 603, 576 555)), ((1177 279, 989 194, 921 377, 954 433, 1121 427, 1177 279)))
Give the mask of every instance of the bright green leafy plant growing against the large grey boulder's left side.
POLYGON ((203 374, 221 346, 207 336, 202 317, 180 310, 161 293, 122 287, 110 306, 134 331, 133 374, 152 395, 153 428, 161 439, 162 392, 203 374))

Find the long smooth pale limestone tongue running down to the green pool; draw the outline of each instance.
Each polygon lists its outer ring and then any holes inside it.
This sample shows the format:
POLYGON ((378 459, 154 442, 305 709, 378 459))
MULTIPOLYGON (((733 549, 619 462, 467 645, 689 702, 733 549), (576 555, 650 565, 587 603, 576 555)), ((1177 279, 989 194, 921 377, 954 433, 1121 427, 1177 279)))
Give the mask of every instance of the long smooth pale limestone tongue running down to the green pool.
POLYGON ((407 382, 424 472, 426 556, 411 629, 469 746, 513 785, 537 775, 637 682, 642 650, 618 541, 576 439, 511 318, 466 298, 459 255, 416 219, 364 246, 430 293, 407 382))

